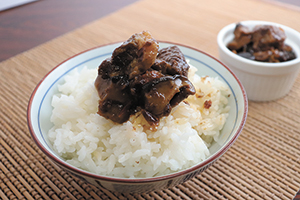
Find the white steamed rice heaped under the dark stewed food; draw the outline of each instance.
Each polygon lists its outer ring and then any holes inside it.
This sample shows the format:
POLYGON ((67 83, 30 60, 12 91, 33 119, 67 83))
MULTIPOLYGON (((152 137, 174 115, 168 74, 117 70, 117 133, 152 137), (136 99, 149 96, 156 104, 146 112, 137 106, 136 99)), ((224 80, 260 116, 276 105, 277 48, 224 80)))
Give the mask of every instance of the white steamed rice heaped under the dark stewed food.
POLYGON ((165 175, 203 161, 228 116, 230 90, 219 79, 195 72, 191 66, 196 95, 173 108, 152 131, 139 113, 123 124, 99 116, 97 69, 74 70, 52 99, 54 126, 48 136, 54 150, 81 169, 124 178, 165 175), (209 109, 203 106, 206 100, 212 102, 209 109))

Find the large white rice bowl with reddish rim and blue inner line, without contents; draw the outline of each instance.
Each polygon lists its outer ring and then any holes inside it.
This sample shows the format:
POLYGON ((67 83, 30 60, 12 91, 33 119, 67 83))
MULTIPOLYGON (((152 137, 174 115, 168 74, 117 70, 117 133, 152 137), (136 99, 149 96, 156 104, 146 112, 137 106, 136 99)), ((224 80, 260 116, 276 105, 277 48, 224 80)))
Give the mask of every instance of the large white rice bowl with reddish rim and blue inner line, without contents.
MULTIPOLYGON (((123 193, 149 192, 172 187, 193 178, 212 165, 237 139, 245 124, 248 102, 242 84, 224 64, 204 52, 178 44, 176 45, 181 49, 186 58, 190 60, 190 63, 199 68, 200 75, 219 77, 229 86, 232 92, 232 95, 229 97, 229 105, 231 106, 229 117, 222 130, 220 144, 214 143, 210 147, 211 156, 195 166, 176 173, 159 177, 129 179, 96 175, 84 171, 68 164, 53 151, 47 133, 52 126, 50 122, 52 111, 50 102, 53 94, 58 92, 57 84, 62 81, 62 78, 66 74, 75 68, 79 70, 83 66, 97 68, 102 60, 111 56, 112 51, 119 45, 120 43, 101 46, 75 55, 53 68, 40 81, 32 93, 27 110, 28 127, 33 140, 53 162, 62 168, 97 187, 104 187, 111 191, 123 193)), ((160 43, 160 47, 170 45, 170 43, 160 43)))

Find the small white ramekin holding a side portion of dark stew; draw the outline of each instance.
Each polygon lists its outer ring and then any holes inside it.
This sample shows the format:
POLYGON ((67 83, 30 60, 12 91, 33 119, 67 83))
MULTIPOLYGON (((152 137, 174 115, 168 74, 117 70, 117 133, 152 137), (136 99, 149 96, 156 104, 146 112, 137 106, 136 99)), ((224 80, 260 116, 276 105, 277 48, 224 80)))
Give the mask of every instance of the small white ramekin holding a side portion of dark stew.
POLYGON ((287 36, 285 43, 296 53, 296 59, 281 63, 253 61, 231 52, 226 46, 234 38, 236 23, 225 26, 218 34, 219 57, 243 83, 249 100, 271 101, 284 97, 292 88, 300 69, 300 33, 281 24, 266 21, 241 21, 252 29, 256 25, 281 27, 287 36))

